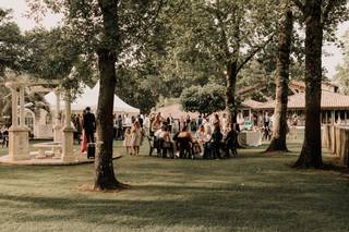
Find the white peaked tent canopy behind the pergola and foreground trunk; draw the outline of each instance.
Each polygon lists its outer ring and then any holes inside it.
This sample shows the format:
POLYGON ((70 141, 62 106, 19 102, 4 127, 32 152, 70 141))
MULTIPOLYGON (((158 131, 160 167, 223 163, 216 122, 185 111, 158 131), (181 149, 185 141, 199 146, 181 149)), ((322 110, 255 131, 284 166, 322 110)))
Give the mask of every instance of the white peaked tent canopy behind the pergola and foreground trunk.
MULTIPOLYGON (((83 94, 71 103, 71 108, 73 111, 83 111, 84 109, 86 109, 86 107, 89 107, 93 111, 95 111, 97 110, 99 82, 93 88, 86 86, 83 89, 83 94)), ((45 99, 51 107, 56 106, 57 103, 56 94, 53 91, 47 94, 45 96, 45 99)), ((64 103, 61 103, 61 107, 64 108, 64 103)), ((130 105, 121 100, 117 95, 115 95, 113 112, 139 114, 140 109, 131 107, 130 105)))

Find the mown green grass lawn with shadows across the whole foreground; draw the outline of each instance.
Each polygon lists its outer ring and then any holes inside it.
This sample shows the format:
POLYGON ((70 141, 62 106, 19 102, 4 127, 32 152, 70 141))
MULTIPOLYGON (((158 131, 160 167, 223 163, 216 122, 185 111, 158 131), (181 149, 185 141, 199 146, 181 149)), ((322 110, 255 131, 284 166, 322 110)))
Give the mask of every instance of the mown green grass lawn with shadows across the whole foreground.
POLYGON ((157 159, 144 146, 115 162, 132 185, 119 193, 81 190, 93 164, 1 164, 0 231, 349 231, 349 180, 289 168, 300 145, 227 160, 157 159))

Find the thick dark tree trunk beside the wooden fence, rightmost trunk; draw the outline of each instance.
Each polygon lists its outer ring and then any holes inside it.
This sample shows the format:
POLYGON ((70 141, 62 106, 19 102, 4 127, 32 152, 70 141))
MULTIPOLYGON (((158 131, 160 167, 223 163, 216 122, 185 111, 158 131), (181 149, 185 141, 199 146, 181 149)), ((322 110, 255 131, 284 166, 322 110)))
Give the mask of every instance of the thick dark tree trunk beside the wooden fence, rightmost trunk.
POLYGON ((305 135, 297 168, 321 168, 322 1, 305 1, 305 135))

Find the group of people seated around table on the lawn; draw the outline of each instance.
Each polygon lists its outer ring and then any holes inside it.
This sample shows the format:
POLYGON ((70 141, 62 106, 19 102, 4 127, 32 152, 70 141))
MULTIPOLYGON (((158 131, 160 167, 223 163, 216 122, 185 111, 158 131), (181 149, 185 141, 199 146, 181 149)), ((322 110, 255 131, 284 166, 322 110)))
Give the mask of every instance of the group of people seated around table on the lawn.
POLYGON ((151 135, 155 137, 155 147, 160 152, 160 148, 171 148, 174 154, 173 157, 183 157, 185 151, 191 156, 200 154, 203 158, 222 158, 230 155, 237 155, 237 137, 238 132, 234 126, 227 122, 226 115, 221 119, 216 113, 209 119, 198 117, 193 126, 192 120, 179 123, 179 131, 172 129, 169 124, 171 119, 165 119, 161 113, 157 113, 152 118, 152 126, 149 129, 151 135), (152 120, 153 119, 153 120, 152 120), (192 129, 196 129, 194 136, 192 129), (171 131, 173 136, 171 136, 171 131), (184 144, 185 149, 182 149, 184 144))

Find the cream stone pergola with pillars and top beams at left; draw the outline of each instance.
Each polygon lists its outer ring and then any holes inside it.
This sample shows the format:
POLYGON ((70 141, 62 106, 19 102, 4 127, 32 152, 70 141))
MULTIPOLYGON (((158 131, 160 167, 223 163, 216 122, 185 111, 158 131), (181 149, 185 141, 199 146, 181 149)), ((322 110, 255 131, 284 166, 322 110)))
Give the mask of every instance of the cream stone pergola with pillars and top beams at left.
MULTIPOLYGON (((26 76, 19 76, 16 77, 16 81, 10 81, 5 83, 5 86, 11 89, 12 95, 12 125, 9 129, 9 161, 31 160, 33 158, 35 159, 35 157, 31 156, 29 152, 29 130, 25 125, 24 93, 27 87, 33 87, 33 89, 35 89, 35 87, 40 87, 47 84, 58 86, 55 89, 57 96, 57 105, 53 126, 53 143, 51 144, 59 145, 61 149, 57 149, 57 147, 53 148, 55 146, 52 146, 55 156, 56 158, 59 158, 61 162, 74 162, 76 160, 73 149, 74 130, 71 126, 70 89, 67 89, 65 91, 60 89, 58 81, 48 82, 43 80, 32 80, 26 76), (65 118, 63 125, 60 122, 61 94, 64 94, 65 118)), ((35 91, 40 90, 36 88, 35 91)), ((49 146, 48 143, 46 144, 49 146)))

